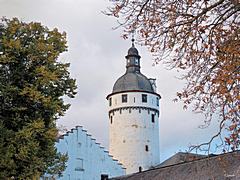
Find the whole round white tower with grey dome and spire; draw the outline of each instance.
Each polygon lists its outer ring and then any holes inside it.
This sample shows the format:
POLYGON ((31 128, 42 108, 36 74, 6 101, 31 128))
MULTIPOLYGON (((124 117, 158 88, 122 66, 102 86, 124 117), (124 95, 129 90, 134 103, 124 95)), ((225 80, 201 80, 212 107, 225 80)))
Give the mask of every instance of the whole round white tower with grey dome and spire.
POLYGON ((160 163, 159 99, 155 79, 140 72, 140 56, 132 47, 126 56, 126 73, 113 86, 109 101, 110 154, 127 174, 160 163))

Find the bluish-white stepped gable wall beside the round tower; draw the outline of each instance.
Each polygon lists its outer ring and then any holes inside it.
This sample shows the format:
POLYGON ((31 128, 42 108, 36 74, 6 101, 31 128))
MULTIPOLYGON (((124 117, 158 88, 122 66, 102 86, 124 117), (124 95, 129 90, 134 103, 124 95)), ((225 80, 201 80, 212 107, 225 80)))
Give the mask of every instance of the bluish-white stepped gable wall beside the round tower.
POLYGON ((63 177, 59 179, 100 180, 101 174, 109 177, 125 175, 123 166, 80 126, 59 139, 56 147, 69 158, 63 177))

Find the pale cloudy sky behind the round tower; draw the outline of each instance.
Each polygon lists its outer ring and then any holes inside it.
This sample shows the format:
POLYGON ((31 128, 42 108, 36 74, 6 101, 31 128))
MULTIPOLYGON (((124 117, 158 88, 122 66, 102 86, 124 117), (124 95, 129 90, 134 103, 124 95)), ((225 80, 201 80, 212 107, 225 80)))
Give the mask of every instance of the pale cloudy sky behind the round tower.
MULTIPOLYGON (((71 77, 77 80, 78 94, 66 99, 71 104, 58 126, 67 129, 81 125, 108 149, 108 103, 115 81, 125 73, 125 55, 130 39, 121 37, 123 29, 113 30, 116 19, 105 16, 108 0, 0 0, 0 16, 17 17, 24 22, 41 22, 50 29, 67 33, 68 52, 59 57, 70 62, 71 77)), ((184 87, 178 72, 163 64, 153 66, 153 58, 145 47, 136 44, 141 56, 141 72, 157 79, 160 100, 160 158, 188 150, 189 145, 209 140, 216 123, 200 129, 204 116, 191 109, 183 110, 173 102, 176 92, 184 87)))

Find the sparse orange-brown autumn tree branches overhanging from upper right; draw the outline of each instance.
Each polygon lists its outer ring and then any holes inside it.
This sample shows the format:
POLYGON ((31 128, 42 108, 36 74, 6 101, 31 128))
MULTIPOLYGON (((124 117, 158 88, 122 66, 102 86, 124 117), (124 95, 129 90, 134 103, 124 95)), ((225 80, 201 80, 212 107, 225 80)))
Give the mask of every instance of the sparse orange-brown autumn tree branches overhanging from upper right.
MULTIPOLYGON (((206 115, 220 116, 219 132, 199 147, 210 149, 225 134, 224 150, 240 147, 239 0, 111 0, 105 12, 119 19, 123 37, 132 30, 152 52, 155 63, 184 71, 186 87, 175 101, 206 115), (227 134, 223 131, 227 130, 227 134)), ((226 131, 225 131, 226 132, 226 131)))

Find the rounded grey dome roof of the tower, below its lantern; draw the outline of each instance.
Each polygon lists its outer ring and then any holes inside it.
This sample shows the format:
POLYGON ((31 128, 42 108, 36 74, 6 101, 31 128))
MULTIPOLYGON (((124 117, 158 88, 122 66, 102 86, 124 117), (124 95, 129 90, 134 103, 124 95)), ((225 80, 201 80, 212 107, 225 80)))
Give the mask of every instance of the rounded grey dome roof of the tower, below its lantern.
POLYGON ((127 72, 113 86, 113 93, 122 91, 147 91, 154 93, 149 79, 141 73, 127 72))

